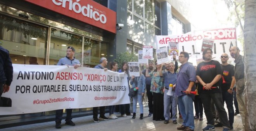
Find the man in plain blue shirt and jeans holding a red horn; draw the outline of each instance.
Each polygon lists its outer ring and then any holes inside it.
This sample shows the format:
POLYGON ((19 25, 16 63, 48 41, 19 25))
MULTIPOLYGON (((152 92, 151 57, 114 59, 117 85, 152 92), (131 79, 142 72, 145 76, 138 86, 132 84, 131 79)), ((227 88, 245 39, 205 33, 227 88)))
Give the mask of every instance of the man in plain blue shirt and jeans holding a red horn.
POLYGON ((183 123, 178 130, 194 131, 194 108, 193 99, 195 95, 190 94, 191 91, 195 90, 195 67, 188 63, 189 53, 180 52, 179 56, 180 71, 178 72, 177 82, 175 87, 175 96, 178 96, 178 103, 180 107, 180 113, 183 118, 183 123), (185 92, 181 92, 185 91, 185 92))

